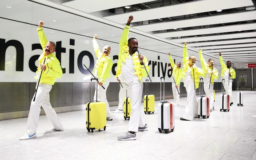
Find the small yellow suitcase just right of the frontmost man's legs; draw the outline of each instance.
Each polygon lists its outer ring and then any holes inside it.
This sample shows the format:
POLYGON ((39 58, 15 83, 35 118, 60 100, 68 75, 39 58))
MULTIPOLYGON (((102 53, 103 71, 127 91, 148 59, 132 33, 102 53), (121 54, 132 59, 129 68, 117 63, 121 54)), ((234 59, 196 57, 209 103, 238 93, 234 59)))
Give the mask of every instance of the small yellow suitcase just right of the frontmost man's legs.
POLYGON ((149 80, 146 80, 146 95, 144 96, 144 113, 150 114, 155 111, 155 96, 147 94, 149 92, 149 80))

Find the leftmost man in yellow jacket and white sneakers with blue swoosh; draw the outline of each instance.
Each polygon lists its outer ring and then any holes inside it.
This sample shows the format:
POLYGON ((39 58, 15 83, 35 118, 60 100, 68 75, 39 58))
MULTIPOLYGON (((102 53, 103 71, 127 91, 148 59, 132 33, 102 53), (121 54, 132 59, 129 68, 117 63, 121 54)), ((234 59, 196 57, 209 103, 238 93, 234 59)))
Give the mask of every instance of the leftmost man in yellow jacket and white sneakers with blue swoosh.
MULTIPOLYGON (((55 43, 52 41, 48 41, 43 29, 43 22, 40 21, 37 28, 38 37, 40 40, 40 44, 43 49, 43 53, 38 58, 39 66, 37 68, 37 75, 35 79, 37 79, 37 94, 34 100, 34 96, 31 101, 29 116, 27 118, 27 133, 20 137, 19 140, 27 140, 37 137, 37 124, 39 119, 39 114, 41 110, 41 106, 45 110, 45 114, 47 118, 53 124, 52 130, 54 131, 63 131, 62 123, 60 122, 55 110, 51 106, 50 103, 50 95, 49 92, 51 91, 52 85, 56 81, 57 78, 62 76, 62 69, 59 63, 59 60, 56 58, 55 54, 55 43), (39 77, 42 76, 40 82, 38 84, 39 77)), ((36 88, 37 88, 36 85, 36 88)))

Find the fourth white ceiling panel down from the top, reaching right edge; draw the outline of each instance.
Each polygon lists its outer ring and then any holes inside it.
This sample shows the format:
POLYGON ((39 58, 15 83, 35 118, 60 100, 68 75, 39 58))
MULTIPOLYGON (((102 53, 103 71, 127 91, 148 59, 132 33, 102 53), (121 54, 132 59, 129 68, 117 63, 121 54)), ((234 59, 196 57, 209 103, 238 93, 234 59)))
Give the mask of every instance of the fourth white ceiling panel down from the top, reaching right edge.
POLYGON ((193 35, 222 33, 222 32, 235 32, 240 30, 246 31, 246 30, 253 30, 253 29, 256 29, 256 23, 226 25, 221 27, 210 27, 210 28, 203 28, 203 29, 190 29, 185 31, 156 33, 154 35, 162 38, 167 38, 167 37, 182 37, 182 36, 193 36, 193 35))

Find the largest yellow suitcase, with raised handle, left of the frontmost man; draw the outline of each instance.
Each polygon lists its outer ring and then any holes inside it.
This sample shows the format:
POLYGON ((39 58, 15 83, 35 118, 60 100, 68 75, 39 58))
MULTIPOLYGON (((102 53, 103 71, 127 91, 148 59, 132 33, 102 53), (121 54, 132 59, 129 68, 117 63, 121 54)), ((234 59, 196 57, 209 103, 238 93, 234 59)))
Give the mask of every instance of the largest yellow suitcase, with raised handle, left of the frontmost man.
MULTIPOLYGON (((96 80, 97 83, 98 79, 92 78, 91 82, 92 80, 96 80)), ((104 129, 105 131, 107 126, 106 103, 97 101, 97 96, 96 86, 96 101, 88 102, 86 104, 86 128, 88 132, 91 130, 92 133, 95 129, 104 129)))

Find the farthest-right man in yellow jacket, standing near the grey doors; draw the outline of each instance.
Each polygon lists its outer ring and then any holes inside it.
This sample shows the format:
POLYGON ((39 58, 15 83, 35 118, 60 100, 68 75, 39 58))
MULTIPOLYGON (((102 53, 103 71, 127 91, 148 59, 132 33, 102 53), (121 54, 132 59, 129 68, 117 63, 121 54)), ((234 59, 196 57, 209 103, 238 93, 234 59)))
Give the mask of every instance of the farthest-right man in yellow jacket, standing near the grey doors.
POLYGON ((219 61, 221 62, 221 79, 224 79, 224 89, 226 90, 226 93, 229 94, 230 99, 230 106, 233 105, 232 101, 232 78, 235 79, 235 70, 231 68, 231 62, 227 61, 225 64, 223 61, 223 58, 221 56, 221 52, 219 52, 219 61))

